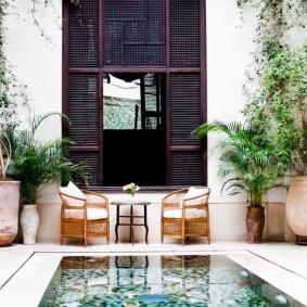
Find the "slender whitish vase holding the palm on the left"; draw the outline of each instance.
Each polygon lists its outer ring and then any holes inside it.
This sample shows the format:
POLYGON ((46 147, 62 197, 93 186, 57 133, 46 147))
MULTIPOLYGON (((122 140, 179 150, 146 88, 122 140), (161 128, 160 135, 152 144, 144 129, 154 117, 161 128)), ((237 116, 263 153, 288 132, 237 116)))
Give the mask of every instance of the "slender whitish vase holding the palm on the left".
POLYGON ((36 243, 36 233, 39 225, 37 205, 23 205, 21 213, 21 226, 24 236, 24 244, 36 243))

